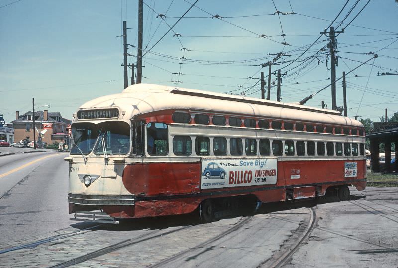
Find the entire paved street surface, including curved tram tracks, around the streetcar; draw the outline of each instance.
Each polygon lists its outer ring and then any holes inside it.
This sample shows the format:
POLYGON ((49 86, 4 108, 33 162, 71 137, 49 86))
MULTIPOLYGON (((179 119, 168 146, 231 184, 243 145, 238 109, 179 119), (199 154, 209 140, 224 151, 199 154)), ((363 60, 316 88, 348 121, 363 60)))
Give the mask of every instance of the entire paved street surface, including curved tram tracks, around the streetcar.
POLYGON ((350 187, 348 201, 265 204, 207 224, 183 215, 85 229, 69 220, 66 155, 0 157, 0 267, 398 266, 398 188, 350 187))

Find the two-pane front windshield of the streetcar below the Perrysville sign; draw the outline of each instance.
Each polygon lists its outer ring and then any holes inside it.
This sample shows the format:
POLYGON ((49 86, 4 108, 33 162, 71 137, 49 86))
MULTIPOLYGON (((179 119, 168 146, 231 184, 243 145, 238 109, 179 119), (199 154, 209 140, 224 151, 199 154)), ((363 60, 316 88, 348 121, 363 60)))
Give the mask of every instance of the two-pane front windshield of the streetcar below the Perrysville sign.
POLYGON ((93 149, 100 155, 125 155, 130 151, 130 126, 125 122, 75 123, 72 136, 75 145, 71 155, 87 155, 93 149))

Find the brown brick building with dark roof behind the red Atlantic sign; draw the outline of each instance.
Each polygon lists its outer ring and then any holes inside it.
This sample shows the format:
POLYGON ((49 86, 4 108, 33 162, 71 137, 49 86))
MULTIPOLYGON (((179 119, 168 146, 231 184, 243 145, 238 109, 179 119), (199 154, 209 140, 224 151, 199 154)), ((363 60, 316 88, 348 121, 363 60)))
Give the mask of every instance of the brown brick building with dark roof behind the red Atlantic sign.
MULTIPOLYGON (((54 144, 54 142, 65 141, 68 136, 68 125, 71 120, 63 118, 59 112, 36 111, 35 126, 38 131, 44 134, 42 143, 54 144)), ((33 112, 29 111, 19 115, 16 112, 16 119, 12 121, 14 126, 14 140, 19 142, 22 139, 33 141, 33 112)), ((36 131, 36 141, 40 141, 40 135, 36 131)), ((40 143, 40 142, 39 142, 40 143)))

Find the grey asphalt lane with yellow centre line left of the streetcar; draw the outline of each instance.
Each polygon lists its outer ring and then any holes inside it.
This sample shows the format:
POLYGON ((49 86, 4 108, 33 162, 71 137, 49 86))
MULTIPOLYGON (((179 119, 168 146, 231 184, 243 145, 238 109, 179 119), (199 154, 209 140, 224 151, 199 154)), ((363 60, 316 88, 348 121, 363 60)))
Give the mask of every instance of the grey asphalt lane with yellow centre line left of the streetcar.
POLYGON ((7 149, 16 153, 0 157, 0 242, 68 228, 68 154, 7 149))

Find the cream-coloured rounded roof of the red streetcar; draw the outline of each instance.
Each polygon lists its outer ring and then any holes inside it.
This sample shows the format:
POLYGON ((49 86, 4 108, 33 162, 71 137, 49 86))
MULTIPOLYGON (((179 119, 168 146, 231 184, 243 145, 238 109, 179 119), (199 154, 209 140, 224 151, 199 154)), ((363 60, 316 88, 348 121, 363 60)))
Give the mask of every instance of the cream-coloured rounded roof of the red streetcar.
POLYGON ((80 106, 79 110, 112 106, 120 108, 123 119, 132 119, 149 112, 173 109, 362 127, 359 121, 341 116, 338 111, 156 84, 129 86, 121 93, 90 100, 80 106))

